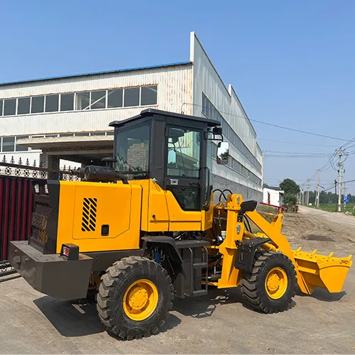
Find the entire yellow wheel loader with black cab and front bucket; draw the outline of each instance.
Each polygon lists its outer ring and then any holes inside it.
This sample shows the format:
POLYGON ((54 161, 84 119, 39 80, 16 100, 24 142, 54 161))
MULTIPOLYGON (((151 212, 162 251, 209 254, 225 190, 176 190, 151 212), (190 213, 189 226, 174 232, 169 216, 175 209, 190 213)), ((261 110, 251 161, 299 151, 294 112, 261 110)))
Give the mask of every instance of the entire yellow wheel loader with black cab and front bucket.
POLYGON ((174 298, 210 287, 239 286, 264 313, 287 310, 296 286, 342 290, 351 256, 292 250, 281 208, 264 216, 256 201, 212 190, 212 163, 226 169, 229 158, 219 121, 146 109, 110 126, 106 166, 34 185, 32 234, 11 242, 9 261, 35 290, 94 295, 119 339, 157 334, 174 298))

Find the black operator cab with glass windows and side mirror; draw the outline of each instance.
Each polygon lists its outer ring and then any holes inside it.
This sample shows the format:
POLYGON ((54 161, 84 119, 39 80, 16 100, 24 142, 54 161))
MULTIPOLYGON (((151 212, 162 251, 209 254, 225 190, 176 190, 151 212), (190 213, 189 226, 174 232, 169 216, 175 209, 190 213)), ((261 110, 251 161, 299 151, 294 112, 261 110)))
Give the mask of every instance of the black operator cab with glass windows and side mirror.
MULTIPOLYGON (((212 192, 212 140, 222 141, 219 121, 146 109, 114 127, 116 170, 128 180, 152 179, 170 190, 185 211, 208 209, 212 192), (209 152, 209 153, 207 153, 209 152)), ((217 163, 228 160, 219 143, 217 163)))

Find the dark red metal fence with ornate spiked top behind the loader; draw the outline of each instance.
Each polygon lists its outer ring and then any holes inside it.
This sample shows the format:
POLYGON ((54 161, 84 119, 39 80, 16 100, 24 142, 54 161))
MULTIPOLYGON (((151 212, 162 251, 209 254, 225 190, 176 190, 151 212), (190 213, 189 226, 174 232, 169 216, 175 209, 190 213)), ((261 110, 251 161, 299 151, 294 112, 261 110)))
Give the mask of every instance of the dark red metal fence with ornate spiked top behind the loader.
MULTIPOLYGON (((35 165, 35 162, 34 164, 35 165)), ((23 241, 31 235, 33 185, 38 180, 80 180, 70 167, 63 170, 25 165, 21 158, 0 162, 0 275, 11 273, 7 261, 11 241, 23 241)))

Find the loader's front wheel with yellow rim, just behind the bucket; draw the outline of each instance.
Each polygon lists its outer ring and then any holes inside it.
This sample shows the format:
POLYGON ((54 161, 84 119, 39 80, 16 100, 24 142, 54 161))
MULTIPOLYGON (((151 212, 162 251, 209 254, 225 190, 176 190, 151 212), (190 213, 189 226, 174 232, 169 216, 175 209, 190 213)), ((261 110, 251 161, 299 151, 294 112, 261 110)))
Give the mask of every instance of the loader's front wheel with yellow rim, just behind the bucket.
POLYGON ((273 251, 256 254, 251 273, 244 273, 241 294, 255 310, 275 313, 287 310, 295 296, 296 272, 292 261, 273 251))

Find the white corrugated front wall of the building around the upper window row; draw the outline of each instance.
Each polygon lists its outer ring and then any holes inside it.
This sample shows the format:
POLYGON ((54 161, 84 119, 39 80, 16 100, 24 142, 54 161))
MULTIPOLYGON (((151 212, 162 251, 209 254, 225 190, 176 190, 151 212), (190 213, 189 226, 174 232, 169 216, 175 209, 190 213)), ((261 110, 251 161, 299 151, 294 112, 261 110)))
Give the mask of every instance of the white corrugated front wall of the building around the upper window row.
MULTIPOLYGON (((191 81, 192 65, 183 64, 131 72, 9 84, 0 87, 0 99, 158 84, 158 104, 152 107, 180 112, 182 103, 192 102, 191 81)), ((20 136, 104 131, 107 130, 111 121, 129 118, 146 108, 148 107, 4 116, 0 120, 0 134, 1 136, 20 136)))

